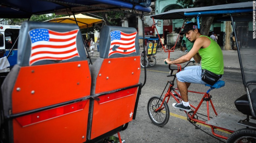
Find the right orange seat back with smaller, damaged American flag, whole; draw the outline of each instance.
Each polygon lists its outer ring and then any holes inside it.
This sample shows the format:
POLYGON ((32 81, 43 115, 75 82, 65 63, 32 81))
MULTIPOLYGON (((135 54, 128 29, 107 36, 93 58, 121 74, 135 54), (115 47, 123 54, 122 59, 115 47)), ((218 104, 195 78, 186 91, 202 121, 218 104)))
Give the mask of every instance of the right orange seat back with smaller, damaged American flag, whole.
MULTIPOLYGON (((100 57, 90 65, 93 100, 91 135, 96 138, 132 120, 139 84, 140 52, 137 30, 104 26, 100 31, 100 57), (101 95, 104 92, 112 92, 101 95)), ((89 119, 90 120, 90 119, 89 119)))

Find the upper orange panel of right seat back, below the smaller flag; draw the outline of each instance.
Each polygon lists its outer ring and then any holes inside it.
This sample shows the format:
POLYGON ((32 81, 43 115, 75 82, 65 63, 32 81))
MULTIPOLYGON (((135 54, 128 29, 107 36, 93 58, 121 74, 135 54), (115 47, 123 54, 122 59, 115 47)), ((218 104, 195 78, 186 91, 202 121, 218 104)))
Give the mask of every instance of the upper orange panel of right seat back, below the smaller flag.
POLYGON ((95 93, 136 85, 140 76, 140 56, 104 59, 96 79, 95 93))

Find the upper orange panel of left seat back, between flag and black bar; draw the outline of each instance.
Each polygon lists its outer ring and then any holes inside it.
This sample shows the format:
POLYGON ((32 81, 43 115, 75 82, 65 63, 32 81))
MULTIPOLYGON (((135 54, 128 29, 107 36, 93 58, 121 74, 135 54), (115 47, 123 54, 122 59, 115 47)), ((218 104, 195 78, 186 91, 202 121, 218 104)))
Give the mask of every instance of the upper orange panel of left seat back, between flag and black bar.
POLYGON ((87 61, 21 67, 12 92, 12 113, 90 95, 87 61))

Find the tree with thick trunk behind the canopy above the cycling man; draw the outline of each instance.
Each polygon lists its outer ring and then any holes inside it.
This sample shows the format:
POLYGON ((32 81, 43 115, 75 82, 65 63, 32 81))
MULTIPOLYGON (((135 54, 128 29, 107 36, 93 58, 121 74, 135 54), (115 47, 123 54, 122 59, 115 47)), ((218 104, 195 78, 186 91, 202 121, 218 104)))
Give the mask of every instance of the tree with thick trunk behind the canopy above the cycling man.
MULTIPOLYGON (((180 3, 184 8, 196 8, 196 7, 205 7, 205 6, 215 6, 229 3, 238 3, 245 2, 248 0, 177 0, 177 3, 180 3)), ((214 20, 214 17, 202 17, 200 31, 202 35, 208 35, 211 24, 214 20)))

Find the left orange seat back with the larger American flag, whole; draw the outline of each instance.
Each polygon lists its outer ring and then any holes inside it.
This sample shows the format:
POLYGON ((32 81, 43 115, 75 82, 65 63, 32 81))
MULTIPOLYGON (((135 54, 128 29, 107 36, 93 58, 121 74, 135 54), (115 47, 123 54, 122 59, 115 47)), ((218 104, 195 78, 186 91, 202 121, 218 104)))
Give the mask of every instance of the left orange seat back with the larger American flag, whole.
POLYGON ((1 87, 4 116, 13 116, 10 138, 85 142, 91 75, 79 27, 24 22, 18 47, 17 64, 1 87))

